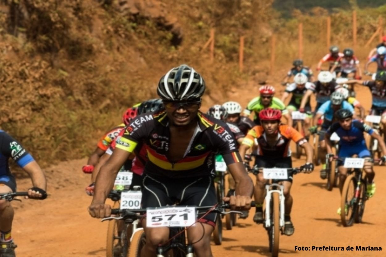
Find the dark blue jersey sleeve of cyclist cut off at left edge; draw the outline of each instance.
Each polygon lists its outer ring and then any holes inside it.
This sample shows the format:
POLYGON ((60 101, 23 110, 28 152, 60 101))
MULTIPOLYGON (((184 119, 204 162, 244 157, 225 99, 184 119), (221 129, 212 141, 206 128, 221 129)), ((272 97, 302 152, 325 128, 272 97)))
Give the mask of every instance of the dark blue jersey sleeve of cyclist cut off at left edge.
POLYGON ((8 159, 12 158, 20 166, 24 167, 34 158, 13 137, 0 130, 0 176, 11 176, 8 159))

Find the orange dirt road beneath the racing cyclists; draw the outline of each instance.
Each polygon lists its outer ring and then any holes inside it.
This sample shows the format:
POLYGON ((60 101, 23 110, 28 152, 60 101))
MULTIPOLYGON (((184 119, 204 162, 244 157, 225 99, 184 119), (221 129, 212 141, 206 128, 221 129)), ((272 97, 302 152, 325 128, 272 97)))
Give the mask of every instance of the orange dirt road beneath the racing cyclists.
MULTIPOLYGON (((257 90, 256 90, 257 91, 257 90)), ((360 87, 358 99, 369 109, 370 94, 360 87)), ((234 99, 246 103, 251 97, 248 90, 240 89, 234 99), (247 98, 248 97, 248 98, 247 98), (245 99, 244 99, 245 98, 245 99)), ((303 164, 295 161, 294 166, 303 164)), ((91 198, 84 192, 90 176, 81 172, 85 159, 63 162, 45 169, 49 179, 49 198, 45 201, 23 200, 13 202, 16 215, 13 236, 19 247, 18 257, 103 257, 105 256, 107 223, 88 215, 91 198)), ((386 256, 386 168, 375 167, 377 192, 366 203, 363 223, 349 228, 340 225, 336 214, 340 205, 339 190, 325 189, 319 178, 319 169, 312 174, 295 176, 292 194, 294 205, 292 220, 295 234, 281 236, 281 256, 386 256), (299 247, 346 247, 348 245, 382 247, 381 252, 371 251, 295 251, 299 247), (293 255, 295 254, 295 255, 293 255)), ((29 179, 18 181, 21 191, 30 186, 29 179)), ((252 222, 253 210, 247 220, 231 231, 223 231, 223 244, 213 245, 214 256, 255 257, 268 256, 267 233, 262 225, 252 222)))

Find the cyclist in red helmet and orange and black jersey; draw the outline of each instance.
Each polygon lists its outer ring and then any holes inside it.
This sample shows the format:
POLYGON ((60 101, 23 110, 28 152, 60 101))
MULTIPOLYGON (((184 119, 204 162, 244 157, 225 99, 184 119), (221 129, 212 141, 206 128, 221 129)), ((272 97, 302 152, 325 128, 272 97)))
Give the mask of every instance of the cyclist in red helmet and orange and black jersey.
MULTIPOLYGON (((312 172, 314 165, 312 164, 312 147, 307 140, 294 128, 288 125, 281 125, 281 112, 267 108, 259 113, 261 120, 261 126, 253 127, 244 138, 240 145, 240 155, 244 156, 246 150, 254 145, 257 140, 257 156, 255 159, 255 165, 263 168, 291 168, 291 150, 289 143, 291 140, 305 149, 306 152, 306 164, 302 166, 306 172, 312 172)), ((254 191, 254 197, 256 201, 256 213, 253 220, 256 223, 263 221, 262 204, 264 201, 264 186, 266 180, 264 180, 261 173, 256 177, 256 186, 254 191)), ((294 232, 293 223, 291 221, 291 208, 292 208, 292 196, 290 194, 293 178, 290 176, 286 180, 281 180, 280 183, 284 185, 285 207, 284 207, 284 234, 292 235, 294 232)))

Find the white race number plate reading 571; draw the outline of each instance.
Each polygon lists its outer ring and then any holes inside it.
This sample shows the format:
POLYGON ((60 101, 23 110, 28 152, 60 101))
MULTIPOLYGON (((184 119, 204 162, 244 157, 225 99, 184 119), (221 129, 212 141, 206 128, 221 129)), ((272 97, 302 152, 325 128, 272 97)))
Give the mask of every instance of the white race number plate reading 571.
POLYGON ((195 207, 175 206, 146 210, 147 227, 188 227, 195 222, 195 207))

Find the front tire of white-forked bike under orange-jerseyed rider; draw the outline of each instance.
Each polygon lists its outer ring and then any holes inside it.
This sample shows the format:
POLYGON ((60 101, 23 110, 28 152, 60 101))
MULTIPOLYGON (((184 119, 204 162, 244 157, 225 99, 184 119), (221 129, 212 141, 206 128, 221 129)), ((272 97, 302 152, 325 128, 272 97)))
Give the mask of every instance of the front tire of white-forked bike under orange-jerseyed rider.
POLYGON ((272 208, 271 208, 271 249, 272 257, 277 257, 279 255, 279 236, 280 236, 280 201, 279 193, 272 193, 272 208))

